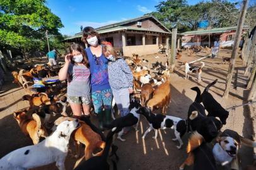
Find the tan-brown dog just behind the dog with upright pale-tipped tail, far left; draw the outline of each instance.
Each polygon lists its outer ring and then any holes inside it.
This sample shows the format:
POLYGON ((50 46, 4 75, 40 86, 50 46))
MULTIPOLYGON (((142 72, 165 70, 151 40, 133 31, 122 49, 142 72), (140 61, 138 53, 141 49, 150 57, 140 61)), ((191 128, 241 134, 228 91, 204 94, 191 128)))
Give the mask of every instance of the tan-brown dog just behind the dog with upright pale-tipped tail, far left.
POLYGON ((24 96, 22 96, 23 100, 28 100, 30 103, 30 108, 32 108, 33 106, 40 106, 42 104, 45 105, 50 105, 50 99, 48 98, 47 94, 45 93, 40 93, 38 94, 33 94, 32 96, 26 94, 24 96))

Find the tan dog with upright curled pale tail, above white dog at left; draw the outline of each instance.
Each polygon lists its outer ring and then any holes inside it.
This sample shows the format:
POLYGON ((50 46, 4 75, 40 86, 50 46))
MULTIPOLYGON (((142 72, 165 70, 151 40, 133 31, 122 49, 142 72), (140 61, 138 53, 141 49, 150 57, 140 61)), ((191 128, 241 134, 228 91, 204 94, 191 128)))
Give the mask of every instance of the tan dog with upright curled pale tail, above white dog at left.
POLYGON ((28 116, 26 115, 26 111, 28 110, 15 111, 13 117, 18 122, 21 132, 28 135, 35 145, 38 144, 40 137, 45 138, 48 136, 48 133, 41 124, 40 117, 36 113, 33 113, 32 116, 28 116))

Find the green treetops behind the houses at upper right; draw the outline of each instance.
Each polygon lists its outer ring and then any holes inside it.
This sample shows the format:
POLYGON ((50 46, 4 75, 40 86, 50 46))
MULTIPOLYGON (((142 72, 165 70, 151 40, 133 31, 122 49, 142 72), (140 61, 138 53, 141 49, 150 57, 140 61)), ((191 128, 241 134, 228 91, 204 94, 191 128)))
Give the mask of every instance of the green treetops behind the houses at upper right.
POLYGON ((178 31, 189 31, 197 28, 198 21, 208 20, 209 26, 234 26, 238 21, 239 10, 236 3, 225 0, 202 1, 195 5, 185 0, 162 1, 156 6, 154 16, 168 28, 177 26, 178 31))

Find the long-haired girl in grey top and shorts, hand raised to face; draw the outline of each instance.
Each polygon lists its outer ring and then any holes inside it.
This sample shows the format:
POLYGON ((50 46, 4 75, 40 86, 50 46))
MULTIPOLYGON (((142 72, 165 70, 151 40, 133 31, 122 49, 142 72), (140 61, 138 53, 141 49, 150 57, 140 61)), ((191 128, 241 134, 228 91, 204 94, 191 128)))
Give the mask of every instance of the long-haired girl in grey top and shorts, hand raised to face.
POLYGON ((67 101, 69 101, 73 116, 79 118, 82 114, 81 108, 83 108, 84 115, 90 114, 90 66, 81 45, 72 44, 69 52, 65 56, 64 66, 59 71, 59 80, 67 79, 67 101))

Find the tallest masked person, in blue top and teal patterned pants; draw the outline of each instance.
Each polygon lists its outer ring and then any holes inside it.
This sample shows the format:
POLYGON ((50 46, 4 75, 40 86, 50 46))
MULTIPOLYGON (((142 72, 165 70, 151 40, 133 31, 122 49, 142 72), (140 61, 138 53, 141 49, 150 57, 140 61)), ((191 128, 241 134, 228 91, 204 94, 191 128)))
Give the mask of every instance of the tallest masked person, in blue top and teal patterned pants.
POLYGON ((90 45, 85 51, 90 63, 91 98, 99 127, 103 130, 103 124, 111 122, 112 91, 108 82, 108 60, 102 53, 102 45, 98 43, 100 36, 94 28, 88 26, 83 29, 82 41, 90 45))

